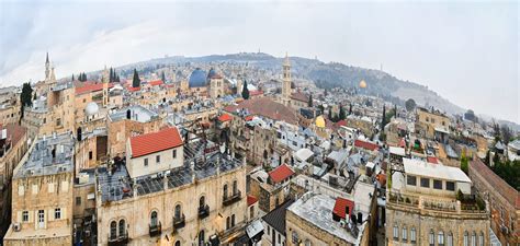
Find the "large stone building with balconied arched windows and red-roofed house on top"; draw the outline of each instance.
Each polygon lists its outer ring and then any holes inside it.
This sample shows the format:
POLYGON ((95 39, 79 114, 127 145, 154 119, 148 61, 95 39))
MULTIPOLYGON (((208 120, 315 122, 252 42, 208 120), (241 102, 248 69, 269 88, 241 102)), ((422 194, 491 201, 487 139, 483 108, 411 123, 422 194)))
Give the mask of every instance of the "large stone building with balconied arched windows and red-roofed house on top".
POLYGON ((157 160, 161 165, 168 154, 181 166, 147 168, 142 160, 99 169, 100 245, 228 244, 244 233, 248 219, 244 162, 222 154, 212 142, 182 143, 180 136, 167 138, 167 133, 154 134, 154 141, 140 147, 132 143, 132 154, 144 151, 143 156, 154 156, 148 166, 158 165, 157 160), (176 154, 179 147, 183 152, 176 154), (134 165, 134 171, 142 165, 140 176, 134 172, 131 177, 128 165, 134 165))

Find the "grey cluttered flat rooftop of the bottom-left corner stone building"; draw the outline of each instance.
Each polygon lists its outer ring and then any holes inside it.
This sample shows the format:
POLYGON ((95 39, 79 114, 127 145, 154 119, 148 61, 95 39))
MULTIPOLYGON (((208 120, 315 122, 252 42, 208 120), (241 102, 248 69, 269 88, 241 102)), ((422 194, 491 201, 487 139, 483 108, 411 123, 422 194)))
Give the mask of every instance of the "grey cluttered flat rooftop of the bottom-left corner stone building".
POLYGON ((37 139, 14 178, 72 172, 74 141, 70 132, 37 139))

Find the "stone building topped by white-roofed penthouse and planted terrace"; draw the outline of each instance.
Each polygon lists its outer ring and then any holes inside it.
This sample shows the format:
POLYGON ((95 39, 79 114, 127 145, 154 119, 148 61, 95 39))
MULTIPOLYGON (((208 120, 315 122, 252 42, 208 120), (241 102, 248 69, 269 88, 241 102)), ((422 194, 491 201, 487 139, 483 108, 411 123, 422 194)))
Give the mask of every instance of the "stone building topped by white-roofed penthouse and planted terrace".
POLYGON ((391 174, 388 245, 489 245, 489 210, 460 168, 403 159, 391 174))

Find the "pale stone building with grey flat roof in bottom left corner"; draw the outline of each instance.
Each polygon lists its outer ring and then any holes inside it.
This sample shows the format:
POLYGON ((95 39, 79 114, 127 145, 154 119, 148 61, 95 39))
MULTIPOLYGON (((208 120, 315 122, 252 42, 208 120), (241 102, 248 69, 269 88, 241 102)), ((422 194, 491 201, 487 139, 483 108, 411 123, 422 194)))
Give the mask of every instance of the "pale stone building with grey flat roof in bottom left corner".
POLYGON ((74 138, 38 139, 14 171, 4 245, 71 245, 74 138))

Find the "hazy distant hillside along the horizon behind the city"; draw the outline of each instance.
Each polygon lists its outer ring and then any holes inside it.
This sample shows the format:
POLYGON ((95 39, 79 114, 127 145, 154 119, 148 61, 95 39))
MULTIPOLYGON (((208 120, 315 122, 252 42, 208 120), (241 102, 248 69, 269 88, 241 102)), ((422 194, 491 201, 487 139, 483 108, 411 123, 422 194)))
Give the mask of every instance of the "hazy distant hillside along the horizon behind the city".
MULTIPOLYGON (((155 66, 179 62, 247 62, 268 70, 281 70, 283 58, 276 58, 262 52, 240 52, 230 55, 211 55, 204 57, 167 57, 151 59, 122 67, 155 66)), ((358 90, 361 80, 368 83, 362 93, 380 95, 393 102, 400 103, 414 98, 419 105, 433 106, 449 114, 461 114, 463 108, 452 104, 428 87, 404 80, 399 80, 386 72, 347 66, 339 62, 328 62, 302 57, 291 57, 292 71, 297 77, 315 81, 319 87, 347 87, 358 90), (397 99, 398 98, 398 99, 397 99)))

